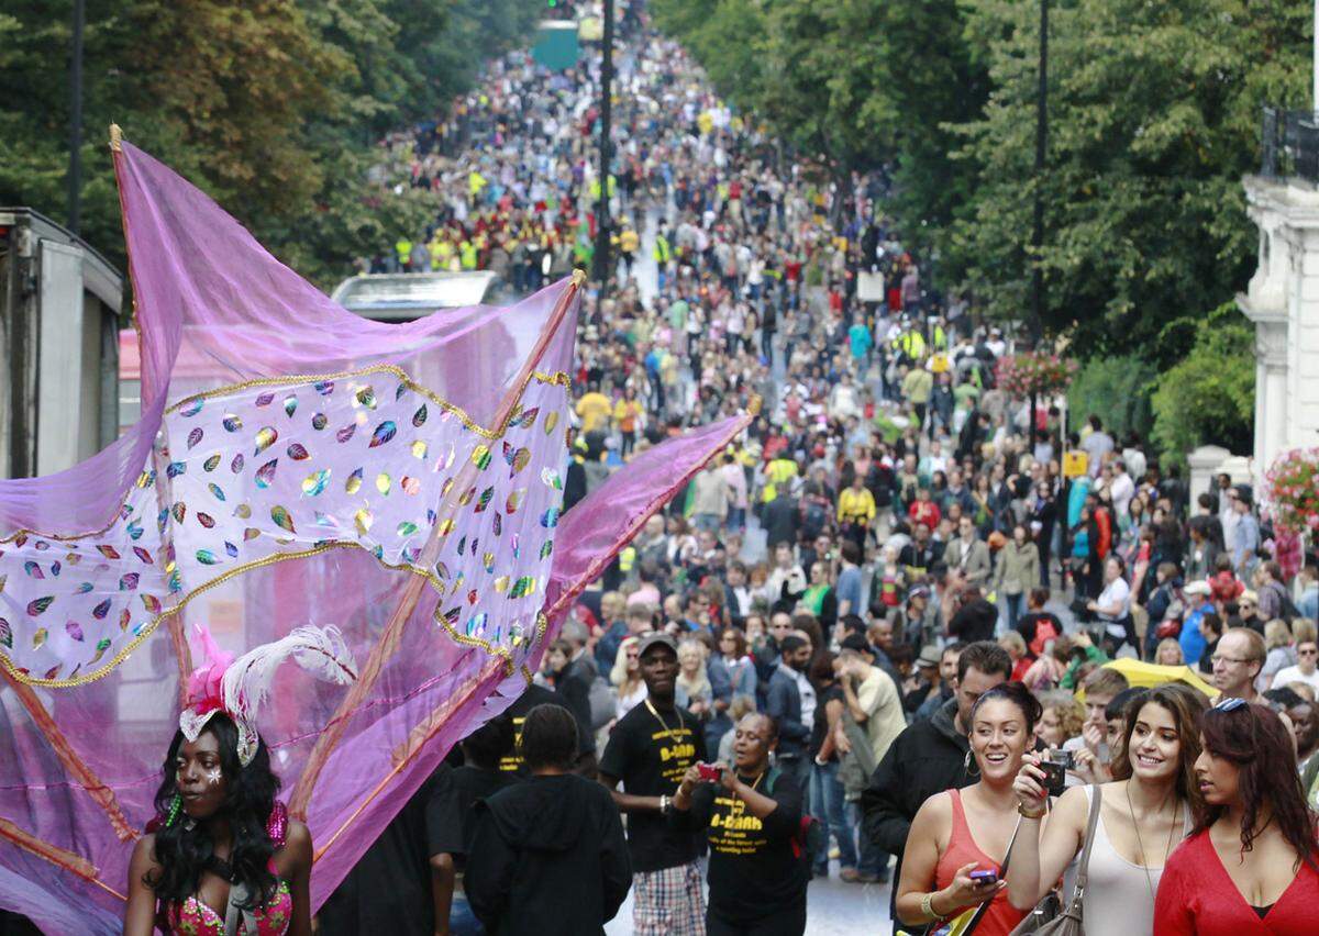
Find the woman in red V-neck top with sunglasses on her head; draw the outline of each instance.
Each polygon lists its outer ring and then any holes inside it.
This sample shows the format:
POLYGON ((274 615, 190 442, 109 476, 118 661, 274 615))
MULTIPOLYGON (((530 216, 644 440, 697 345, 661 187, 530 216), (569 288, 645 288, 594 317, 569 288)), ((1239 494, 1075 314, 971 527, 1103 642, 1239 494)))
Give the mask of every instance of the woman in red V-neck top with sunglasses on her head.
POLYGON ((1163 869, 1154 932, 1315 932, 1319 838, 1286 726, 1264 705, 1225 699, 1204 713, 1200 740, 1204 808, 1163 869))

